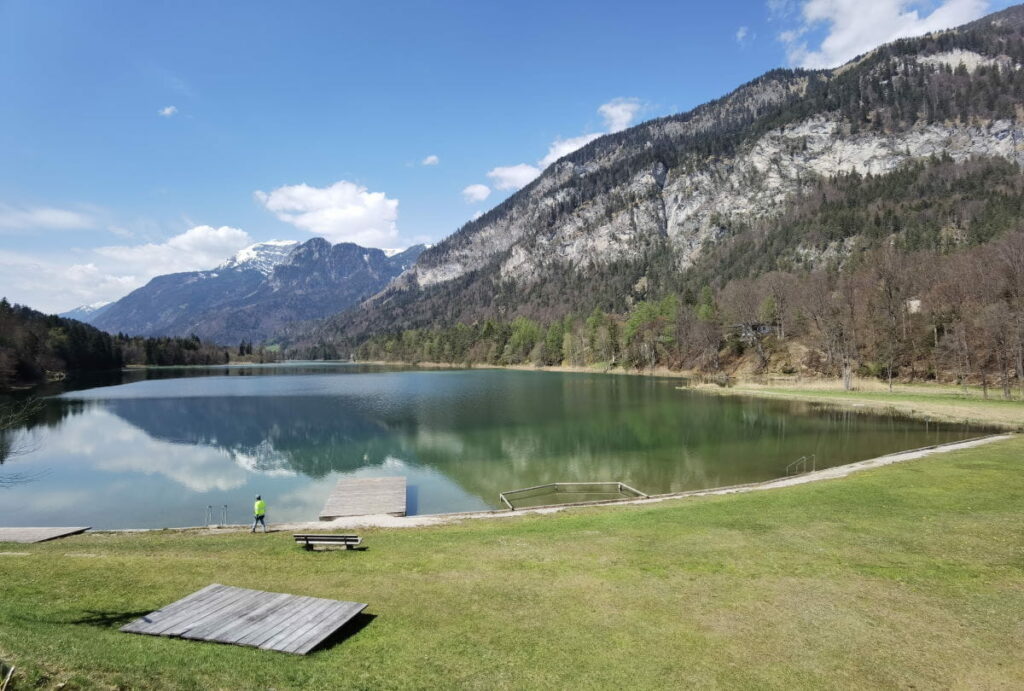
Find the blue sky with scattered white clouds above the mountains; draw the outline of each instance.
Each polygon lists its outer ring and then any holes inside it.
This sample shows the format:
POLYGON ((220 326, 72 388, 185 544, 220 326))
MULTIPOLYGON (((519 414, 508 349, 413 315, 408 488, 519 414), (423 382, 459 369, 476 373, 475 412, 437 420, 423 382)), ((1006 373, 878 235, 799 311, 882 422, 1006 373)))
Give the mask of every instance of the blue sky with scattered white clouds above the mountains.
POLYGON ((1009 4, 0 0, 0 295, 437 242, 600 133, 1009 4))

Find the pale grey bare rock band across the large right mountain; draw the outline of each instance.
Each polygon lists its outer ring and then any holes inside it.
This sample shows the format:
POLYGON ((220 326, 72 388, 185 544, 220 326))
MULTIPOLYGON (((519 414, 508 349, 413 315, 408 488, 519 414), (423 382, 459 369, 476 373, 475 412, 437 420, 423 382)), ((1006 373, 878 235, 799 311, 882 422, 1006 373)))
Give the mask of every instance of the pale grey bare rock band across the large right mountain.
POLYGON ((643 241, 652 236, 667 239, 678 267, 685 269, 726 220, 753 222, 777 214, 804 181, 851 172, 883 175, 942 155, 958 162, 994 156, 1024 164, 1024 125, 983 119, 851 134, 839 116, 816 115, 700 166, 669 170, 656 162, 552 223, 548 218, 568 197, 566 183, 614 166, 617 159, 563 161, 529 190, 522 209, 474 229, 457 247, 442 243, 402 276, 402 286, 429 288, 496 260, 501 278, 532 283, 543 279, 552 263, 587 266, 639 258, 643 241))

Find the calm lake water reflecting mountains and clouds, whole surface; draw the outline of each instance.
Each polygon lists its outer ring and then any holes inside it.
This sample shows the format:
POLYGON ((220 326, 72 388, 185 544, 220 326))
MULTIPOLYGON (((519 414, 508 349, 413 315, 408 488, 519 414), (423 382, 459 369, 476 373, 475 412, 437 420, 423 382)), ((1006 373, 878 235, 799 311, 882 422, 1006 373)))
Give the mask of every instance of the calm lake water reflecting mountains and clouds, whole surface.
POLYGON ((0 465, 0 525, 163 527, 315 520, 345 476, 403 475, 409 513, 617 480, 647 493, 767 480, 952 441, 963 426, 718 397, 676 380, 351 364, 154 370, 46 400, 0 465))

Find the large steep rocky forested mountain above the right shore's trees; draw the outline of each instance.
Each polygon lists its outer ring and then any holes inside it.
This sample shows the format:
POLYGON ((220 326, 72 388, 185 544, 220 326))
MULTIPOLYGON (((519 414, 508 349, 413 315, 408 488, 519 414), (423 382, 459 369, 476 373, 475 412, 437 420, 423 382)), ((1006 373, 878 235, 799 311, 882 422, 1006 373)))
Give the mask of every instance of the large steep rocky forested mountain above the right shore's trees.
POLYGON ((622 313, 884 241, 987 242, 1019 222, 1022 66, 1018 5, 835 70, 769 72, 563 157, 373 300, 289 338, 351 345, 487 317, 622 313), (981 182, 949 183, 961 179, 981 182))

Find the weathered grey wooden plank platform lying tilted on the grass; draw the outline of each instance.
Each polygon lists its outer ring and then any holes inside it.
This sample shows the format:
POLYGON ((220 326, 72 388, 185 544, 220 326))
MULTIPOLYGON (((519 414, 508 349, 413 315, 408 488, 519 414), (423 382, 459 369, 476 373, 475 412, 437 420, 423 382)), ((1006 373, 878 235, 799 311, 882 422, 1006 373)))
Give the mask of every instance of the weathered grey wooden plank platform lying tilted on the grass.
POLYGON ((121 628, 305 655, 366 605, 213 584, 121 628))

